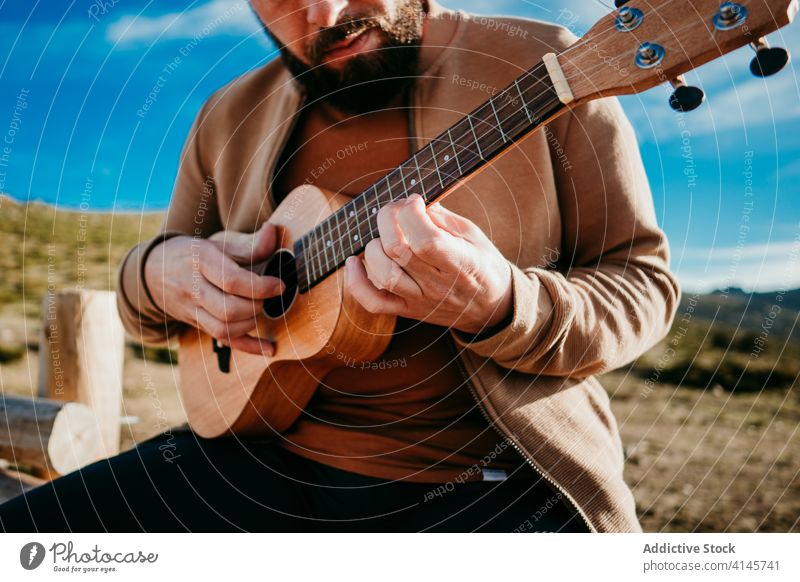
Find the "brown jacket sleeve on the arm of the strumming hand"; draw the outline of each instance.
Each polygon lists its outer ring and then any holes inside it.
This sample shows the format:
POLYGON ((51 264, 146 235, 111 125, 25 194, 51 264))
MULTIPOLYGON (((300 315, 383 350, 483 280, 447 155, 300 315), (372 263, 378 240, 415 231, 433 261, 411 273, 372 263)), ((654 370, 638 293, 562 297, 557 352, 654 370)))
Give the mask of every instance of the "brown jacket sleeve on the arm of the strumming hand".
POLYGON ((150 251, 174 236, 204 238, 222 229, 214 181, 206 170, 211 166, 204 159, 201 147, 209 102, 195 117, 183 145, 169 210, 158 234, 132 247, 117 270, 117 309, 123 327, 143 344, 169 343, 186 327, 185 323, 167 317, 153 301, 144 279, 144 265, 150 251))

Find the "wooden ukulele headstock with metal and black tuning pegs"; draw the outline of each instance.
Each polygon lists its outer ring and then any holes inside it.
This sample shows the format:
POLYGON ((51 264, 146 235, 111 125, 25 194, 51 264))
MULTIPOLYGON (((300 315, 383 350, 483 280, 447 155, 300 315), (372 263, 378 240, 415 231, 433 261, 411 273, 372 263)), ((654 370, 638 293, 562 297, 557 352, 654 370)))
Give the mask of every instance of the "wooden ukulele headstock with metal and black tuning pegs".
POLYGON ((597 22, 558 55, 575 101, 640 93, 670 82, 670 105, 689 111, 703 93, 682 76, 700 65, 750 45, 750 70, 776 73, 788 53, 764 37, 789 24, 798 0, 617 0, 617 10, 597 22))

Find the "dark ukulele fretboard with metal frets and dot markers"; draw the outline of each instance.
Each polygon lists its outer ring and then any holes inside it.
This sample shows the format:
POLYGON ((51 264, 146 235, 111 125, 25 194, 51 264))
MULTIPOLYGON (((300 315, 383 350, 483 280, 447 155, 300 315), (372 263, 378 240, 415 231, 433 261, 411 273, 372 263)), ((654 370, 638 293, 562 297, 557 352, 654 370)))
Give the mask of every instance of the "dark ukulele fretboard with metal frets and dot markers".
POLYGON ((542 64, 517 78, 295 241, 299 292, 379 236, 381 207, 412 194, 432 204, 562 107, 542 64))

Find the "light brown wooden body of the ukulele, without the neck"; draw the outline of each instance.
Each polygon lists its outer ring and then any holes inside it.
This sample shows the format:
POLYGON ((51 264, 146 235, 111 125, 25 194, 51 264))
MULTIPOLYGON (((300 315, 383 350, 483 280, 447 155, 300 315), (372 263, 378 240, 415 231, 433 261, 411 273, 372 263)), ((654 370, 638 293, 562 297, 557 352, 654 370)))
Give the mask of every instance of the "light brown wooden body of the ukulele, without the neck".
MULTIPOLYGON (((296 239, 349 201, 309 185, 292 190, 269 218, 280 227, 277 248, 291 252, 296 239)), ((279 317, 259 314, 250 334, 274 341, 275 354, 231 350, 227 372, 218 364, 211 336, 196 328, 181 334, 181 396, 200 436, 285 431, 330 370, 378 358, 397 320, 369 313, 345 293, 341 268, 287 303, 279 317)))

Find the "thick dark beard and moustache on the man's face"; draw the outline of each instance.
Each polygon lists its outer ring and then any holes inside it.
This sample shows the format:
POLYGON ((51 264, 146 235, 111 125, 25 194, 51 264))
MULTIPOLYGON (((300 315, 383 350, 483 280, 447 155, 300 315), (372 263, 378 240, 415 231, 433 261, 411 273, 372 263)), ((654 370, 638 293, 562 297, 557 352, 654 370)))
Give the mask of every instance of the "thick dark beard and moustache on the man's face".
POLYGON ((307 102, 322 100, 336 109, 363 114, 384 107, 414 83, 422 40, 422 0, 408 0, 395 21, 385 18, 346 18, 319 32, 304 51, 311 65, 294 56, 265 29, 281 52, 286 68, 306 92, 307 102), (335 70, 321 64, 325 50, 351 33, 376 29, 382 42, 367 54, 350 57, 335 70))

